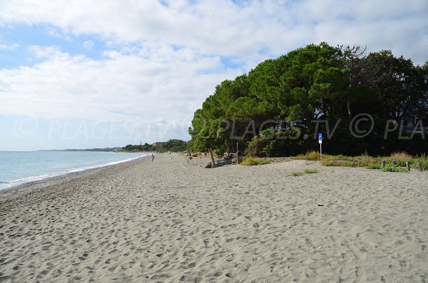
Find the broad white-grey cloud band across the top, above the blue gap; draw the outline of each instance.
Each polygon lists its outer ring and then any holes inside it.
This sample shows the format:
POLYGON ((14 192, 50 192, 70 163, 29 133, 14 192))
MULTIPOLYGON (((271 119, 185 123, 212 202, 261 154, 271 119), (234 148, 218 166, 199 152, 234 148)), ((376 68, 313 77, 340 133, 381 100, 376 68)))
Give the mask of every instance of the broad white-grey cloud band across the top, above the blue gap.
MULTIPOLYGON (((3 1, 0 24, 49 24, 65 33, 96 34, 116 43, 158 42, 188 46, 200 53, 258 59, 260 51, 277 56, 312 41, 335 40, 338 37, 335 30, 342 30, 340 34, 344 34, 347 24, 370 27, 353 41, 370 43, 374 45, 372 48, 389 47, 381 40, 371 40, 384 34, 384 29, 388 29, 384 23, 389 21, 402 26, 387 38, 397 46, 412 46, 406 31, 417 30, 420 37, 428 28, 426 0, 410 3, 306 0, 282 1, 282 4, 249 1, 243 6, 227 0, 191 3, 193 1, 168 1, 168 6, 163 6, 156 0, 106 1, 103 5, 87 0, 41 1, 39 4, 29 0, 3 1), (414 21, 421 24, 413 26, 414 21), (319 25, 332 29, 316 34, 312 29, 323 31, 319 25)), ((410 52, 404 55, 412 57, 410 52)))

